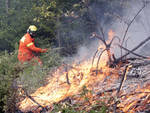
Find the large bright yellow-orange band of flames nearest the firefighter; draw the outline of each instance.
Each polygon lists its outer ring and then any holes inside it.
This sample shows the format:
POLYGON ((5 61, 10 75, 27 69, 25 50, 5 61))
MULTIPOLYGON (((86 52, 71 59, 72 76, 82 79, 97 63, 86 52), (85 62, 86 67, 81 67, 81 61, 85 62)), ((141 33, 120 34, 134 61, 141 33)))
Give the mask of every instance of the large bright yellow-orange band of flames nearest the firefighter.
MULTIPOLYGON (((70 69, 68 71, 70 85, 66 82, 66 73, 60 75, 60 70, 57 70, 53 77, 49 78, 49 83, 46 86, 40 87, 31 96, 42 106, 50 106, 53 103, 59 102, 66 97, 77 94, 84 85, 95 82, 95 79, 101 81, 105 75, 98 74, 98 76, 91 76, 91 60, 83 62, 82 65, 76 66, 79 70, 70 69)), ((73 64, 74 66, 75 64, 73 64)), ((101 63, 101 66, 104 66, 101 63)), ((107 68, 107 67, 105 67, 107 68)), ((107 73, 107 69, 103 70, 107 73)), ((28 111, 36 107, 37 104, 32 102, 29 98, 25 98, 19 108, 22 111, 28 111)))

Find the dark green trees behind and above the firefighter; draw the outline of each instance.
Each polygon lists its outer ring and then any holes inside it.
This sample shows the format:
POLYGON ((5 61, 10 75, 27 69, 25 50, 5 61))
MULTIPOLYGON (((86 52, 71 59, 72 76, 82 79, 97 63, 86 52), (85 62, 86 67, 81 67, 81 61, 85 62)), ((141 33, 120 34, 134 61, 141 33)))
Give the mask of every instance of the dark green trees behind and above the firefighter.
MULTIPOLYGON (((122 3, 119 0, 8 1, 7 13, 5 5, 0 7, 0 51, 15 50, 15 44, 28 26, 35 24, 38 26, 37 45, 63 47, 61 54, 65 56, 76 53, 85 41, 89 43, 89 35, 98 27, 96 21, 108 24, 112 16, 107 15, 118 13, 116 9, 121 9, 119 3, 122 3)), ((4 0, 0 2, 5 4, 4 0)))

